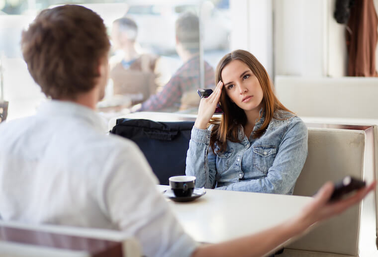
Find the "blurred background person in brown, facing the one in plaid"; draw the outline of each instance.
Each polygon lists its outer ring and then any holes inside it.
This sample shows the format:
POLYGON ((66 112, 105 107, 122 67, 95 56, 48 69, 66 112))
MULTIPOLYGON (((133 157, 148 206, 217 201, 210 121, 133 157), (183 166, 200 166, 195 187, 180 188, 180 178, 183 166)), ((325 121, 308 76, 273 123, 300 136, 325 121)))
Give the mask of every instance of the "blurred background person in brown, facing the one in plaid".
POLYGON ((140 103, 156 92, 155 66, 158 57, 139 54, 135 48, 138 27, 134 20, 122 17, 113 21, 111 39, 120 55, 111 59, 110 78, 113 93, 127 95, 132 103, 140 103), (120 57, 120 58, 119 58, 120 57))

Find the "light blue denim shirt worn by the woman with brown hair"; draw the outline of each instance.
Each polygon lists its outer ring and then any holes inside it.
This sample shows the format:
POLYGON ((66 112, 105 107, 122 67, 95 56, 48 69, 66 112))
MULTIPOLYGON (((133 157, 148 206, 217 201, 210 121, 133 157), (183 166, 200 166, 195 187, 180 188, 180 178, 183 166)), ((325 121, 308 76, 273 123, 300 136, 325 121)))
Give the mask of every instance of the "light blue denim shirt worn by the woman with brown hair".
MULTIPOLYGON (((264 115, 253 128, 262 126, 264 115)), ((193 127, 186 174, 196 176, 195 186, 262 193, 292 194, 307 157, 307 127, 297 116, 276 111, 260 138, 248 138, 239 126, 240 143, 227 141, 225 152, 209 147, 211 128, 193 127)))

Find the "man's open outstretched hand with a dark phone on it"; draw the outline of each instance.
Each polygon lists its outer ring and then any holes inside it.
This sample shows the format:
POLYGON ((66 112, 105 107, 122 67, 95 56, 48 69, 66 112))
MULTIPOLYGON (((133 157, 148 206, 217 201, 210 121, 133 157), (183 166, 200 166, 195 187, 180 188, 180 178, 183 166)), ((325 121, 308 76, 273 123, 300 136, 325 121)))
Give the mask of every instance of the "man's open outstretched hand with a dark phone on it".
POLYGON ((377 181, 374 181, 369 186, 360 189, 352 196, 330 203, 328 200, 332 195, 334 184, 332 182, 327 182, 319 189, 314 196, 314 200, 303 209, 301 220, 304 222, 305 226, 310 226, 318 221, 340 214, 349 207, 360 202, 376 187, 376 184, 377 181))

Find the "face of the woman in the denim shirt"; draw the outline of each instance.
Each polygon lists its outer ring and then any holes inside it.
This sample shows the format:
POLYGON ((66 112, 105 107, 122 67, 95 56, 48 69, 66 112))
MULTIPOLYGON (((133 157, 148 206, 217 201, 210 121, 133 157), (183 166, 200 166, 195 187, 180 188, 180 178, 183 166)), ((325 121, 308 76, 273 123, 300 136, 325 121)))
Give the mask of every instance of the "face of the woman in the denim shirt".
POLYGON ((239 60, 232 60, 221 72, 224 88, 230 99, 245 112, 260 111, 263 89, 251 69, 239 60))

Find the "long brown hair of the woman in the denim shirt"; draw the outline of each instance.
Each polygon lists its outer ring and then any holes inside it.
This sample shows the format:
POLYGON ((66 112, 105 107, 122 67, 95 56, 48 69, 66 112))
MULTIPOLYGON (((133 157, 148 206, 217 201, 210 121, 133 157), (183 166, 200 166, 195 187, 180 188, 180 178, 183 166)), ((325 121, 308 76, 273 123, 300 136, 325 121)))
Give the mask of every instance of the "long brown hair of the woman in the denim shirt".
MULTIPOLYGON (((222 81, 222 70, 231 61, 240 60, 245 63, 248 68, 259 80, 261 88, 263 89, 262 107, 264 113, 263 125, 254 131, 254 138, 261 137, 271 122, 276 110, 289 111, 283 104, 277 99, 273 92, 272 81, 265 70, 264 66, 256 59, 254 55, 244 50, 235 50, 229 54, 226 54, 218 63, 215 70, 215 85, 219 81, 222 81)), ((219 152, 224 152, 227 147, 227 140, 231 142, 240 142, 238 137, 239 125, 244 126, 247 122, 247 116, 242 108, 237 106, 231 101, 227 95, 226 88, 222 87, 222 93, 220 96, 220 105, 224 111, 222 117, 210 120, 210 123, 214 124, 210 137, 210 146, 214 151, 215 144, 218 146, 219 152)), ((260 117, 261 118, 261 117, 260 117)))

